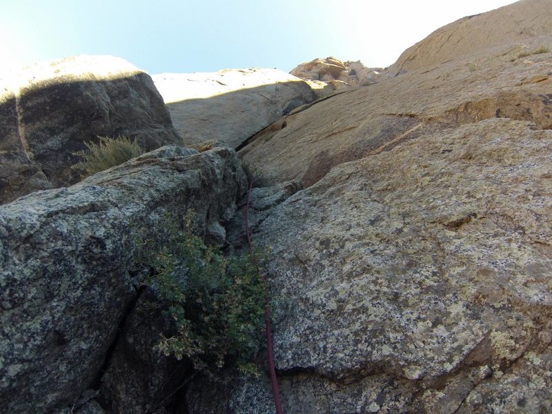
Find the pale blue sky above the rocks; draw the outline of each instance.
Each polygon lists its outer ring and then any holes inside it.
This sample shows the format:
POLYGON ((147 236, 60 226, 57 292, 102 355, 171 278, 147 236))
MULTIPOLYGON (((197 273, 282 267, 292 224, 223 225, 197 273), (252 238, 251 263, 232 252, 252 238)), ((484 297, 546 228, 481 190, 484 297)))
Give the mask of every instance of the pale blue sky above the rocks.
POLYGON ((150 74, 391 65, 428 34, 514 0, 0 0, 0 72, 114 55, 150 74))

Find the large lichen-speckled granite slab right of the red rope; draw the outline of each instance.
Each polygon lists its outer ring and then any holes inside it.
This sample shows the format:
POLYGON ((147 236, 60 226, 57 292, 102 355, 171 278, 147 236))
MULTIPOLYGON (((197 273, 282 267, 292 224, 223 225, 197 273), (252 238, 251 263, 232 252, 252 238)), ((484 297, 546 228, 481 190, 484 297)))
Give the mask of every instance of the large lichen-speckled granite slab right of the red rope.
MULTIPOLYGON (((549 130, 480 121, 337 166, 254 219, 255 244, 271 252, 288 407, 453 413, 477 387, 473 401, 489 408, 513 378, 531 377, 515 374, 520 357, 551 364, 551 151, 549 130), (320 392, 331 384, 348 391, 320 392)), ((516 395, 549 409, 552 379, 538 369, 538 388, 520 380, 516 395)), ((239 397, 252 386, 218 404, 265 412, 260 397, 239 397)), ((204 386, 189 399, 209 395, 204 386)))

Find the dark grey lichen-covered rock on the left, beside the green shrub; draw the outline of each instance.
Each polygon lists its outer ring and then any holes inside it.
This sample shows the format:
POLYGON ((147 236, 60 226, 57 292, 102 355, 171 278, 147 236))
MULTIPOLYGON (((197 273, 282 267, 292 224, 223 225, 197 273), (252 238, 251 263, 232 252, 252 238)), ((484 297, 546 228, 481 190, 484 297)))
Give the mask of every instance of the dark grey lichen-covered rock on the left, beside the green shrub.
POLYGON ((190 209, 221 228, 245 188, 233 150, 163 147, 1 206, 0 411, 146 413, 173 393, 187 368, 153 350, 167 322, 144 314, 135 234, 161 248, 167 214, 190 209))

